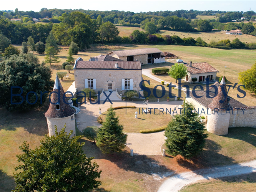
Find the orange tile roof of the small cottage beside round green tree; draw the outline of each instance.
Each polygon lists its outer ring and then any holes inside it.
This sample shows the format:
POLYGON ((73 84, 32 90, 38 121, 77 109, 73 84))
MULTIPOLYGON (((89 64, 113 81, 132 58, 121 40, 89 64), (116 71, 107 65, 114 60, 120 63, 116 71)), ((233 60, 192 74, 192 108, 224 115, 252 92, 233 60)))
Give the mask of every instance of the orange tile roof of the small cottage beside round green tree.
MULTIPOLYGON (((186 65, 186 64, 184 64, 184 65, 186 65)), ((206 62, 203 62, 203 63, 192 63, 192 67, 187 66, 187 71, 190 74, 219 72, 218 70, 216 70, 214 67, 212 67, 211 65, 209 65, 206 62)))

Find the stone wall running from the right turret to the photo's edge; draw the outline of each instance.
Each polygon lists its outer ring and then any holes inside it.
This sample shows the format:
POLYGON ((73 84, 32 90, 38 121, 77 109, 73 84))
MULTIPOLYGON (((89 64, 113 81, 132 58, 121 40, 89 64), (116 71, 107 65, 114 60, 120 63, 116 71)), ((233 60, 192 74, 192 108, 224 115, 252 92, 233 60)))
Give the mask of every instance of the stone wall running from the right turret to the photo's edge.
POLYGON ((229 127, 256 127, 256 106, 230 111, 229 127), (250 109, 251 108, 251 109, 250 109))

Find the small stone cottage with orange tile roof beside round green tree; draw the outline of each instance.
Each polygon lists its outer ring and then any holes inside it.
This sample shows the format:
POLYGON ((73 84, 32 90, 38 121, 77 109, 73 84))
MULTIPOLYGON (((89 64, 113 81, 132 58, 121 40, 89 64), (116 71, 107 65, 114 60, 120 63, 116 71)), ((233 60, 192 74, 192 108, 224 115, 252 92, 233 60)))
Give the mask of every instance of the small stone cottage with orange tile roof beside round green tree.
POLYGON ((183 81, 193 83, 192 79, 197 78, 196 83, 206 81, 206 78, 209 78, 210 81, 216 80, 216 74, 219 72, 213 66, 209 65, 206 62, 203 63, 187 63, 184 64, 187 66, 188 74, 183 81))

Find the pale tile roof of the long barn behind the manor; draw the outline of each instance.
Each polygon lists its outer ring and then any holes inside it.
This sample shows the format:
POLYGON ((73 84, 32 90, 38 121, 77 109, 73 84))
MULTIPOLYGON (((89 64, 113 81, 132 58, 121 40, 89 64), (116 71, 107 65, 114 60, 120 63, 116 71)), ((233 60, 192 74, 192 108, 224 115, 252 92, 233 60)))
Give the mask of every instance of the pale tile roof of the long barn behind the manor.
POLYGON ((115 53, 118 57, 123 57, 123 56, 131 56, 131 55, 162 53, 163 51, 160 51, 158 48, 145 48, 145 49, 132 49, 132 50, 112 51, 112 52, 115 53))

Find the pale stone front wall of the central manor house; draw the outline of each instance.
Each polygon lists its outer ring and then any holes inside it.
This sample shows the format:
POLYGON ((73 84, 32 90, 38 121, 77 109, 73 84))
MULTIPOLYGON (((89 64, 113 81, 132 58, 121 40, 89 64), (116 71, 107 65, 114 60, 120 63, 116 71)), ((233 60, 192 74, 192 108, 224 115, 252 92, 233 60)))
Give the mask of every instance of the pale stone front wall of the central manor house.
POLYGON ((112 90, 121 91, 121 79, 133 79, 133 90, 139 91, 142 70, 74 70, 77 91, 85 88, 85 79, 96 79, 96 92, 108 91, 108 83, 112 83, 112 90))

